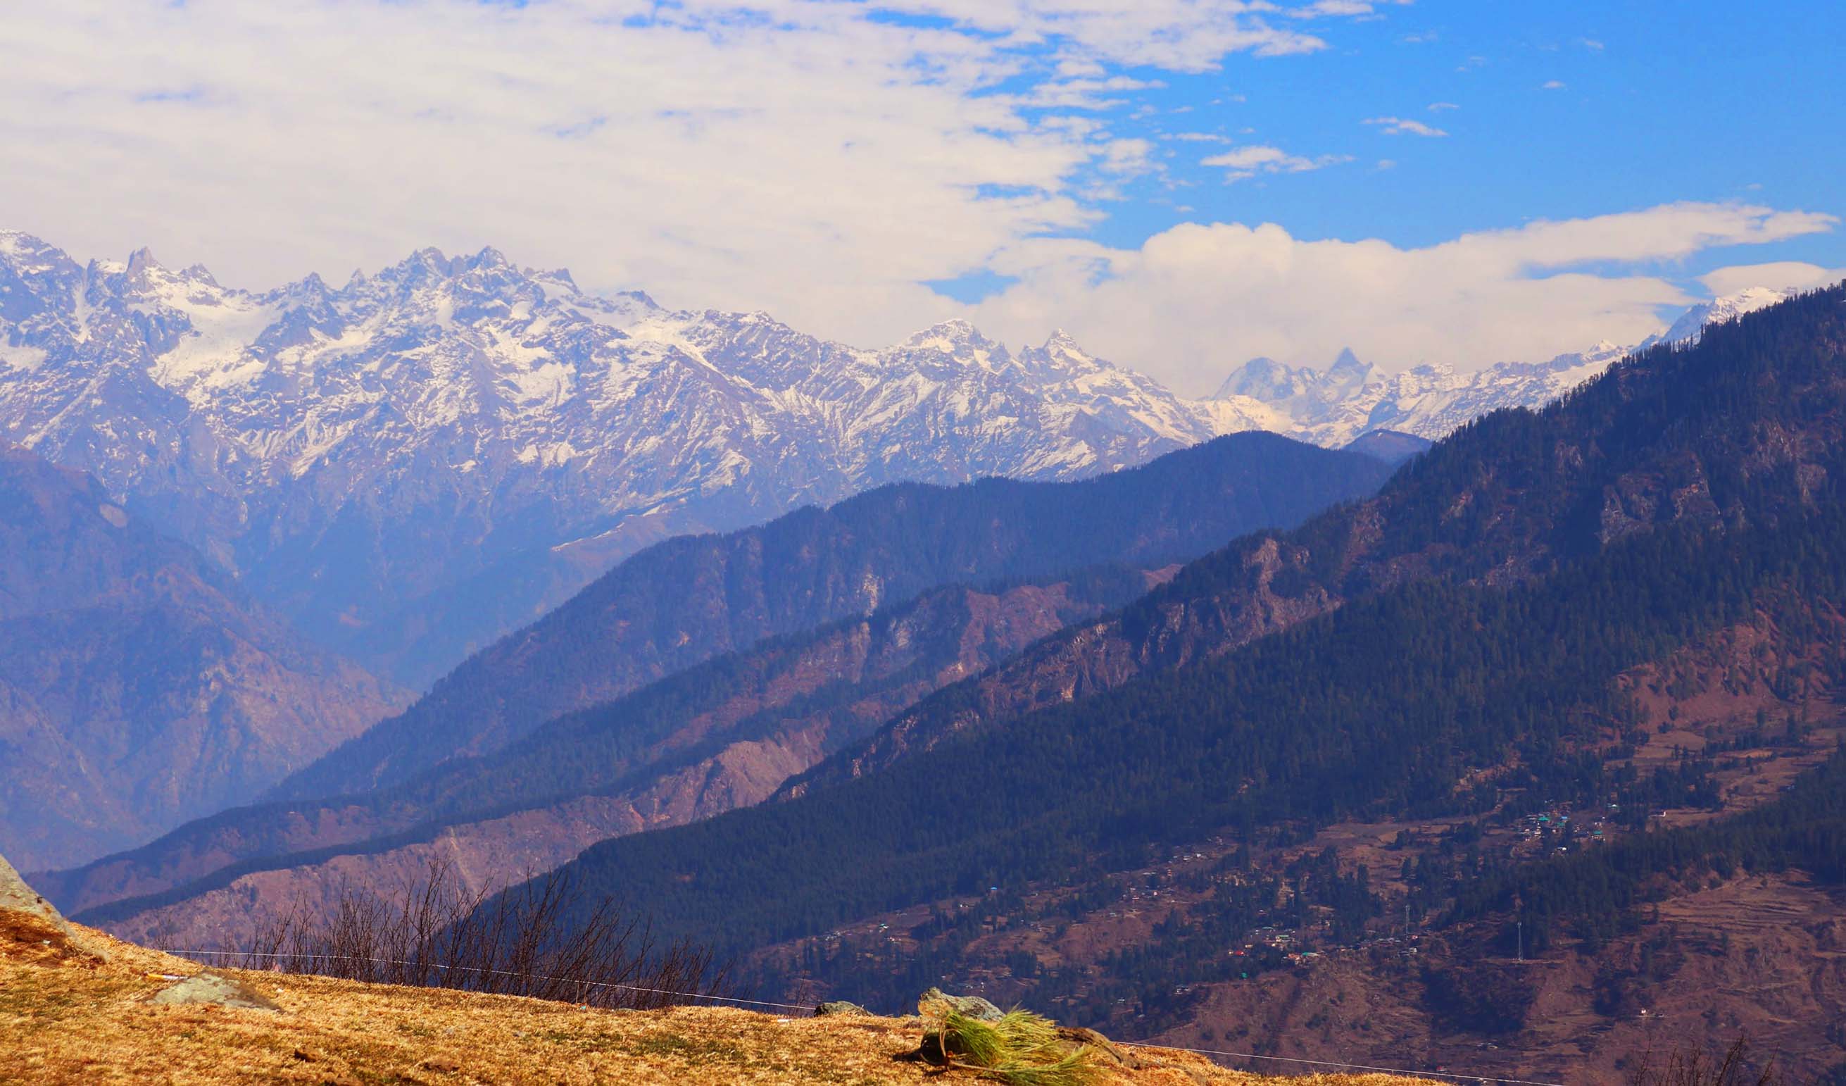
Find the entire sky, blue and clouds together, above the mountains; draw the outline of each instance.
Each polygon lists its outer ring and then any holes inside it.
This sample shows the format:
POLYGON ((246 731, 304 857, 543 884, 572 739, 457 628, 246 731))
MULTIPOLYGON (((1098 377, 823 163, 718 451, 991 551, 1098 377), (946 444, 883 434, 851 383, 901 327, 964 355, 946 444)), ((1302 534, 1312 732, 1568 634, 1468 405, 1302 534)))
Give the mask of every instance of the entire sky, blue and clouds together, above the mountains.
POLYGON ((1846 275, 1846 6, 65 0, 4 223, 229 284, 495 246, 877 345, 1477 368, 1846 275))

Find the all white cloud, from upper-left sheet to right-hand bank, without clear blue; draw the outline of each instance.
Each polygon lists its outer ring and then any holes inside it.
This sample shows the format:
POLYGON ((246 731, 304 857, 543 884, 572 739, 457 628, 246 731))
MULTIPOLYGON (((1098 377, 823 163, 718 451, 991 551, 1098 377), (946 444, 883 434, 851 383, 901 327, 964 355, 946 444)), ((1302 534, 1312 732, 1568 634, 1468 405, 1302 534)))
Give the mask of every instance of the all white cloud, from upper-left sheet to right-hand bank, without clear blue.
MULTIPOLYGON (((0 20, 0 225, 79 257, 150 244, 255 288, 493 244, 591 288, 766 308, 858 344, 947 316, 1013 342, 1069 325, 1191 390, 1250 355, 1324 362, 1348 342, 1384 362, 1475 366, 1639 338, 1656 307, 1687 301, 1648 262, 1831 225, 1700 203, 1429 247, 1237 223, 1132 249, 1082 240, 1117 187, 1161 172, 1109 102, 1157 72, 1320 48, 1307 30, 1327 24, 1292 7, 20 6, 0 20), (923 286, 977 270, 1015 283, 977 307, 923 286)), ((1209 150, 1229 179, 1348 161, 1209 150)), ((1826 273, 1772 268, 1783 284, 1826 273)))

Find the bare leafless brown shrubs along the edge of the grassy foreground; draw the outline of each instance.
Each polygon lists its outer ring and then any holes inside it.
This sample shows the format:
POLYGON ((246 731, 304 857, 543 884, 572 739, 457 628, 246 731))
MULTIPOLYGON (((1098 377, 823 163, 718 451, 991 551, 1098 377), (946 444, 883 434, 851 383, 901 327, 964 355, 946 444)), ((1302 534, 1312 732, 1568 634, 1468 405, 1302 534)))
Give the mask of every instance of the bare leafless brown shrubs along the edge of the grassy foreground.
POLYGON ((397 896, 347 885, 329 907, 297 901, 236 957, 249 970, 633 1010, 729 992, 709 949, 657 946, 609 899, 583 905, 559 872, 498 894, 467 890, 452 863, 430 861, 397 896))

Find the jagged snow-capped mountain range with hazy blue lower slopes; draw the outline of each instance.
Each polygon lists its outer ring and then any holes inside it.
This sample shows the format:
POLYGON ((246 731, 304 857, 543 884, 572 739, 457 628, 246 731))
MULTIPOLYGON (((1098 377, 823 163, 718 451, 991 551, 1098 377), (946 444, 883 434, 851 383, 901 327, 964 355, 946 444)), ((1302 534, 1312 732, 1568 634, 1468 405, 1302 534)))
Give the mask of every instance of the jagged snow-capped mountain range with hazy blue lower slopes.
MULTIPOLYGON (((1756 307, 1687 320, 1726 305, 1756 307)), ((1013 353, 949 321, 858 349, 585 294, 493 249, 253 294, 0 231, 0 440, 96 475, 412 683, 668 534, 905 478, 1076 478, 1248 428, 1434 438, 1619 356, 1471 377, 1255 360, 1189 401, 1063 334, 1013 353)))

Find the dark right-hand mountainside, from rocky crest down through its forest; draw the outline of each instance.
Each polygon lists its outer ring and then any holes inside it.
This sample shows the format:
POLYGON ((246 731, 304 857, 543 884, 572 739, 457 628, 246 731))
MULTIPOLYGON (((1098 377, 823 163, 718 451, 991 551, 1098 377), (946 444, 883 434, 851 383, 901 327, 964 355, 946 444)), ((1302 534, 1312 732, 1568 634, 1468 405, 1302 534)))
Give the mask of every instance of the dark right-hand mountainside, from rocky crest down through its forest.
MULTIPOLYGON (((943 903, 988 887, 1082 898, 1215 835, 1479 814, 1495 779, 1685 794, 1621 768, 1650 722, 1621 678, 1759 611, 1796 622, 1780 600, 1846 606, 1842 351, 1846 286, 1650 349, 925 698, 785 802, 569 872, 748 949, 925 903, 954 927, 943 903)), ((833 975, 877 984, 853 957, 833 975)))

